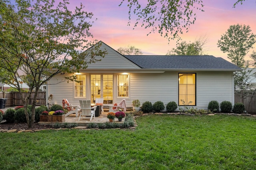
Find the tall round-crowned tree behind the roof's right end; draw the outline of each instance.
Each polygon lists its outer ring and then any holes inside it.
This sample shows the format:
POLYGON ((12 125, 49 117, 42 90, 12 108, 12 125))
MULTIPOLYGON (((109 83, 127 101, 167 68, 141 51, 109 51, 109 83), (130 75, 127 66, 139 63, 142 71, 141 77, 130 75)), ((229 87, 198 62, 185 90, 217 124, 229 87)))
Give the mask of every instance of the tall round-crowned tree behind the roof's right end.
POLYGON ((228 59, 239 67, 244 66, 244 57, 256 42, 256 35, 251 31, 249 25, 231 25, 218 40, 220 50, 228 53, 228 59))

